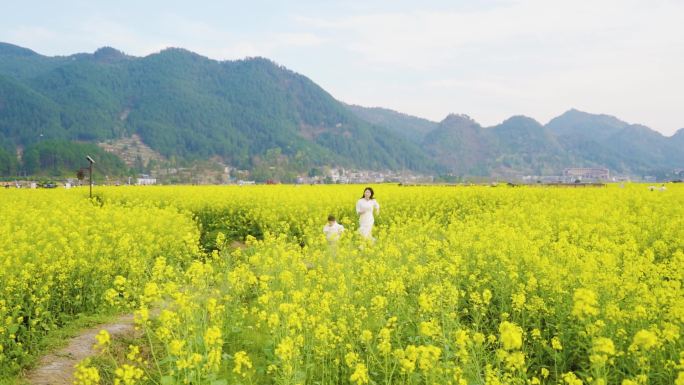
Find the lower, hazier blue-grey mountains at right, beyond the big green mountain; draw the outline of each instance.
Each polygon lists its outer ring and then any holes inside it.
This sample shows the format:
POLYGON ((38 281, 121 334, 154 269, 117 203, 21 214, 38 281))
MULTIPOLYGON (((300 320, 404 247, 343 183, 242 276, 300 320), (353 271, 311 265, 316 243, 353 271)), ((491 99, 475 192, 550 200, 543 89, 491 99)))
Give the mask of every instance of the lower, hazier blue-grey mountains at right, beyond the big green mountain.
MULTIPOLYGON (((354 107, 358 116, 383 124, 385 111, 354 107)), ((415 117, 394 113, 396 127, 415 117)), ((429 121, 428 121, 429 122, 429 121)), ((613 116, 571 109, 541 125, 524 116, 482 127, 451 114, 422 137, 422 147, 457 175, 558 175, 567 167, 606 167, 612 173, 663 175, 684 168, 684 129, 672 137, 613 116)))

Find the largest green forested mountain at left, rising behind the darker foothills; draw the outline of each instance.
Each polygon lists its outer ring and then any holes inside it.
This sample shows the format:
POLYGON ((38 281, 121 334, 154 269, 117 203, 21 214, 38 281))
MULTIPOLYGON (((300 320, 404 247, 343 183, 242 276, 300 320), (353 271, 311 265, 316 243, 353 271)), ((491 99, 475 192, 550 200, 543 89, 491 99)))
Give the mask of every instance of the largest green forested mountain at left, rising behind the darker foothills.
POLYGON ((434 168, 415 144, 267 59, 219 62, 176 48, 143 58, 113 48, 49 58, 9 44, 0 58, 0 144, 10 152, 40 138, 137 133, 164 156, 219 156, 240 168, 269 150, 302 169, 434 168))

